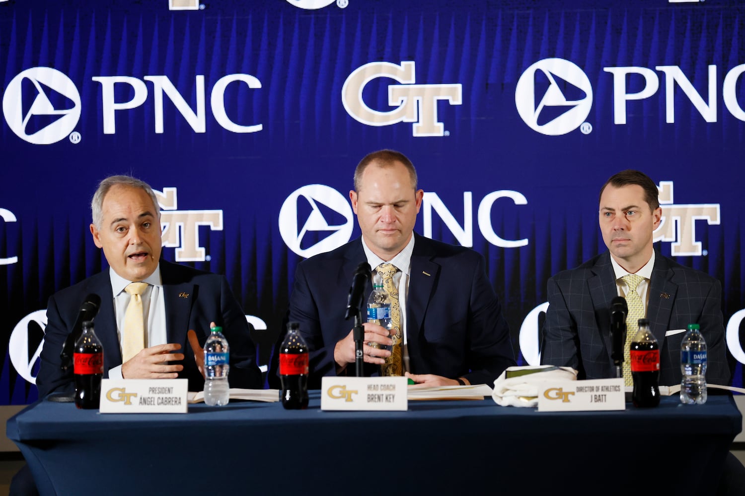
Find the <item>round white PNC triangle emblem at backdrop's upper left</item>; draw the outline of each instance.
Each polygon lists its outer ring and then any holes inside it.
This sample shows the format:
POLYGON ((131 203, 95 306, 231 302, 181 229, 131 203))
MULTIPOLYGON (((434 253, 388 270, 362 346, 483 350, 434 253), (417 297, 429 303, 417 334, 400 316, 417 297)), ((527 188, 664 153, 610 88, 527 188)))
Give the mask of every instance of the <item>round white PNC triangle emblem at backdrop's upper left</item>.
POLYGON ((10 80, 2 111, 19 138, 48 145, 66 138, 77 126, 80 94, 75 83, 57 69, 33 67, 10 80))

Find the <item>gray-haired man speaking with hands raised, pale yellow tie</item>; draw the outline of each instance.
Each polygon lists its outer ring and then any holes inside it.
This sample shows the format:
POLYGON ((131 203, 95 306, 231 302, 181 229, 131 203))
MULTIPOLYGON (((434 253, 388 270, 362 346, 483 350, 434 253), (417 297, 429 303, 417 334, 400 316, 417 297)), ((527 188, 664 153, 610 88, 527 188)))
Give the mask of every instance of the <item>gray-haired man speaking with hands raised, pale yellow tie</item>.
POLYGON ((91 209, 93 242, 110 268, 49 298, 39 397, 75 388, 60 350, 88 294, 101 297, 94 323, 104 378, 185 378, 189 390, 203 390, 202 347, 217 323, 230 344, 230 387, 260 388, 250 326, 226 278, 162 260, 160 210, 150 186, 111 176, 98 185, 91 209))

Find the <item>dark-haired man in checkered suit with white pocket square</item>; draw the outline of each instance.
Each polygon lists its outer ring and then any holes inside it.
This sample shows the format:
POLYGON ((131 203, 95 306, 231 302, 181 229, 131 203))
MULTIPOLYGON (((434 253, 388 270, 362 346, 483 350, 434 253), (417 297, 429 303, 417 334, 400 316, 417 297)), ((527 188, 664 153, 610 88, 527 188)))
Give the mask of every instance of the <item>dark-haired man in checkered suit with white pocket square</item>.
POLYGON ((548 280, 542 363, 573 367, 578 379, 615 377, 609 308, 614 297, 628 299, 624 276, 635 274, 636 301, 659 343, 659 384, 680 384, 689 323, 700 324, 708 345, 706 381, 729 384, 720 282, 654 250, 652 233, 662 219, 656 184, 636 170, 613 175, 600 189, 599 219, 608 251, 548 280))

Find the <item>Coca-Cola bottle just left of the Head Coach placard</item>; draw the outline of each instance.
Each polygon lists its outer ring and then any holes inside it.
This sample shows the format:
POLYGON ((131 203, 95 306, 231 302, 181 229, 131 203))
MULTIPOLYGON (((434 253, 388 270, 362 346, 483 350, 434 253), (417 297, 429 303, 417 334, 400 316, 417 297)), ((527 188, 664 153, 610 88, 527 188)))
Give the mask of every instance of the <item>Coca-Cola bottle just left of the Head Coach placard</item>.
POLYGON ((300 324, 287 324, 287 336, 279 350, 282 406, 288 410, 308 408, 308 346, 299 333, 300 324))

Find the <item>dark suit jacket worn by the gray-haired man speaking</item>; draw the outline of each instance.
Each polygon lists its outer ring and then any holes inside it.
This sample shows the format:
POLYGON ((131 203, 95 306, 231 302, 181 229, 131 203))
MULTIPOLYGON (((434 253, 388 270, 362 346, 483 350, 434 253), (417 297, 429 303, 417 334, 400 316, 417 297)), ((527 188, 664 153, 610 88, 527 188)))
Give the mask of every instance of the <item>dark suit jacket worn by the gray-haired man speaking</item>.
MULTIPOLYGON (((165 260, 160 261, 160 276, 165 298, 168 343, 181 344, 180 351, 185 358, 181 362, 184 369, 179 373, 179 378, 188 379, 189 390, 202 390, 204 379, 197 370, 186 332, 194 329, 200 345, 203 346, 210 332, 211 321, 223 327, 223 334, 228 341, 230 386, 261 388, 261 372, 256 367, 256 347, 251 341, 250 326, 225 277, 165 260), (184 297, 184 294, 187 296, 184 297)), ((37 376, 39 397, 55 390, 72 391, 75 388, 72 367, 69 367, 67 373, 61 370, 60 351, 65 338, 72 332, 83 299, 90 293, 101 297, 101 309, 95 317, 94 325, 95 333, 104 347, 104 378, 109 376, 111 368, 121 365, 114 297, 109 271, 105 270, 49 298, 41 368, 37 376)))

